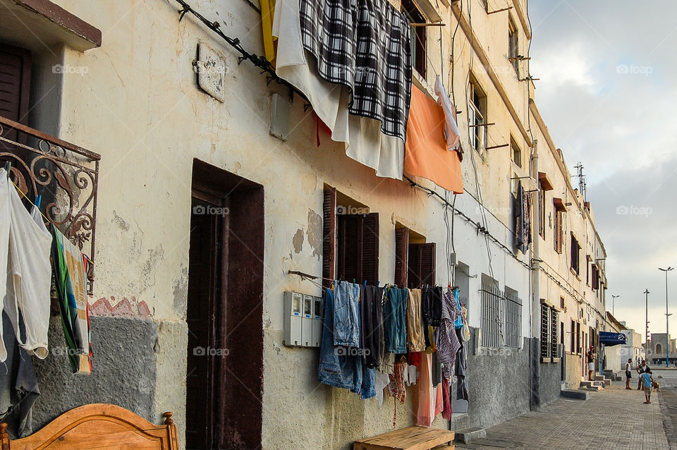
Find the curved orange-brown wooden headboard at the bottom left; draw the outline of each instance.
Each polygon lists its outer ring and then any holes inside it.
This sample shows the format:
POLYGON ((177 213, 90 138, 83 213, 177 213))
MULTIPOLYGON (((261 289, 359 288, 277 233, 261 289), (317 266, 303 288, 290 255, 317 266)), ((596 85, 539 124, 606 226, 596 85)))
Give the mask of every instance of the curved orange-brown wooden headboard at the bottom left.
POLYGON ((93 403, 63 413, 35 434, 10 441, 0 424, 1 450, 178 450, 176 425, 164 413, 164 425, 115 405, 93 403))

